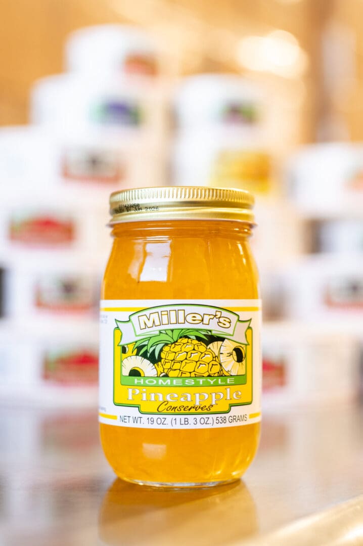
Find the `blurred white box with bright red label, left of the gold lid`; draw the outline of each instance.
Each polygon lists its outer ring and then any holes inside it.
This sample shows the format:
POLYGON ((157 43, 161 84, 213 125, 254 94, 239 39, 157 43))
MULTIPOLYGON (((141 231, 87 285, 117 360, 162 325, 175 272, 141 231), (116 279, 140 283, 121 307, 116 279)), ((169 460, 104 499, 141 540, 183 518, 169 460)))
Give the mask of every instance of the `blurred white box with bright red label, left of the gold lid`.
POLYGON ((112 245, 106 226, 111 189, 27 188, 21 199, 17 188, 0 189, 0 267, 35 263, 40 271, 40 264, 54 260, 61 270, 62 264, 84 260, 85 266, 103 270, 112 245))

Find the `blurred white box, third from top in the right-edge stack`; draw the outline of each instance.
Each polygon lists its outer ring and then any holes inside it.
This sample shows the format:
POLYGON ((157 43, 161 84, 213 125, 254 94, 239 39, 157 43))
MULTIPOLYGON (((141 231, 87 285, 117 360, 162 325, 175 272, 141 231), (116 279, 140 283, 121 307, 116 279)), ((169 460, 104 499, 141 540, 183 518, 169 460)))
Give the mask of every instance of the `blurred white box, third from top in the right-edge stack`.
POLYGON ((341 331, 349 331, 351 322, 360 323, 363 317, 363 259, 347 254, 322 254, 301 259, 285 268, 287 316, 309 320, 324 319, 335 322, 341 331))

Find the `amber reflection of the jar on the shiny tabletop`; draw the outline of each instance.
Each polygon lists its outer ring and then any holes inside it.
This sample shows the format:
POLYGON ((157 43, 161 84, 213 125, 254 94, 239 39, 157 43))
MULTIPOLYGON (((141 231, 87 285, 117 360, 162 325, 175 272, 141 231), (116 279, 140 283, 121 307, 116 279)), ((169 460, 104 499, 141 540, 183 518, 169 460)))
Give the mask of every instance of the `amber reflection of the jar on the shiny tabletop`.
POLYGON ((99 513, 107 546, 229 544, 258 531, 253 498, 237 481, 210 489, 155 489, 116 479, 99 513))

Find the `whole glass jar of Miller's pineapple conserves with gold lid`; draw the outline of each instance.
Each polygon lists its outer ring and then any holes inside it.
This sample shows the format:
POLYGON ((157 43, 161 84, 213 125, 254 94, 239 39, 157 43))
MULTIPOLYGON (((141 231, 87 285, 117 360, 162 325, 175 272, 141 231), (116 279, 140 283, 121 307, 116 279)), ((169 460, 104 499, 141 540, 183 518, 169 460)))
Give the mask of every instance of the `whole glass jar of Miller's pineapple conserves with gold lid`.
POLYGON ((164 187, 111 194, 100 311, 100 436, 117 476, 192 487, 245 472, 260 434, 253 197, 164 187))

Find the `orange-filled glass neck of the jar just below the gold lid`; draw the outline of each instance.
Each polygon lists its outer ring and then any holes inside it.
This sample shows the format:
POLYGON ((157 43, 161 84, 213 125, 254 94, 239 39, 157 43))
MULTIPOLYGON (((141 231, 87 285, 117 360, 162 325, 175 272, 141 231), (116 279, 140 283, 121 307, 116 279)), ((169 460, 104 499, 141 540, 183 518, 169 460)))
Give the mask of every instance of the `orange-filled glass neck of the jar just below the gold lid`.
POLYGON ((253 224, 233 220, 156 220, 152 222, 125 222, 112 226, 115 238, 133 237, 136 239, 168 237, 210 237, 224 235, 233 237, 252 235, 253 224))

